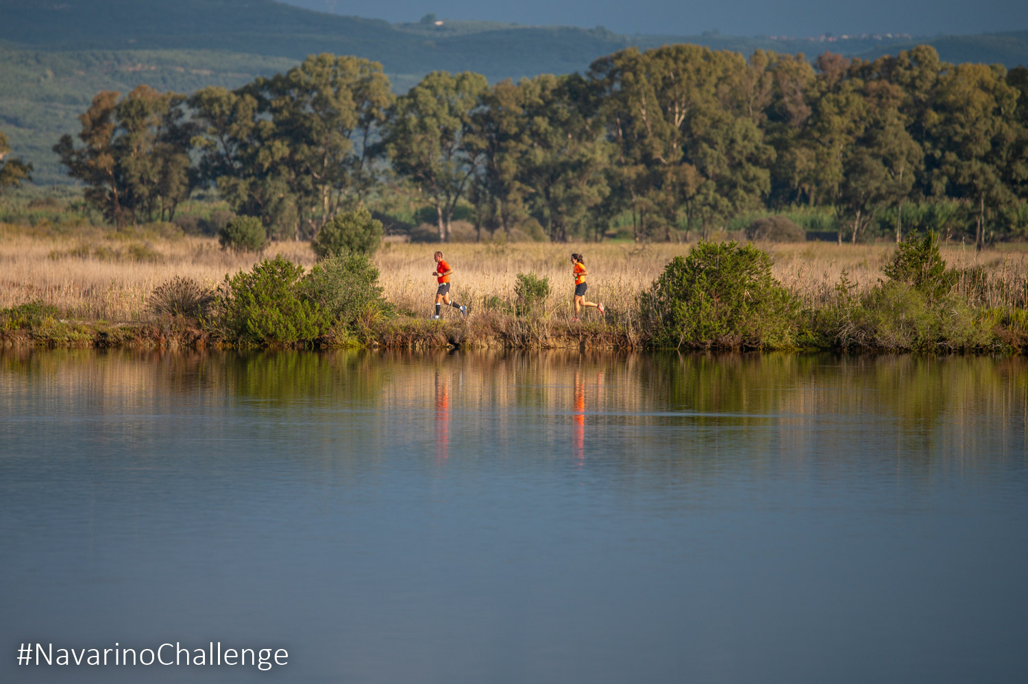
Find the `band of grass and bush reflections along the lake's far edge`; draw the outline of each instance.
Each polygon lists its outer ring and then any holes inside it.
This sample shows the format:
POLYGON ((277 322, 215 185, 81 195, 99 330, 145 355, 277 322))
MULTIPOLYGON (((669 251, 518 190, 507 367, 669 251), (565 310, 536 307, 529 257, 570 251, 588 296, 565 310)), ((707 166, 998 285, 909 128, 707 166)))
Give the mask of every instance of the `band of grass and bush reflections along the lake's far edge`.
MULTIPOLYGON (((387 417, 397 423, 391 429, 402 430, 433 406, 439 463, 452 453, 454 415, 475 429, 488 422, 487 432, 504 445, 522 433, 550 434, 552 416, 564 411, 573 417, 572 452, 580 464, 597 427, 630 425, 646 428, 632 434, 630 446, 603 447, 624 447, 626 460, 655 467, 702 468, 732 442, 733 431, 761 428, 746 435, 750 455, 825 462, 847 451, 845 442, 834 443, 840 435, 864 434, 882 458, 916 468, 944 457, 970 462, 997 449, 1022 458, 1028 367, 1017 357, 564 351, 425 356, 22 350, 0 356, 0 398, 52 401, 62 395, 80 397, 77 408, 97 416, 142 405, 174 410, 186 398, 213 411, 222 397, 233 397, 265 407, 268 420, 297 427, 321 425, 318 411, 347 408, 387 417), (825 421, 839 430, 828 435, 825 421), (983 421, 992 429, 977 429, 983 421), (668 432, 683 426, 691 429, 668 432), (665 464, 668 449, 691 458, 665 464)), ((618 433, 604 434, 610 440, 618 433)), ((391 438, 364 437, 379 445, 391 438)))

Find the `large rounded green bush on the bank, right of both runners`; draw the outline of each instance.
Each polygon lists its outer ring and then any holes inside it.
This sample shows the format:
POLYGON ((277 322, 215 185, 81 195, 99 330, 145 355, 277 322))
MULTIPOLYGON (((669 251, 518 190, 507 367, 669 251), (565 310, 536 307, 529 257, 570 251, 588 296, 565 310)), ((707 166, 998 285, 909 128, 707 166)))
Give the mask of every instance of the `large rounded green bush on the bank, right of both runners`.
POLYGON ((750 245, 699 243, 639 297, 655 347, 792 347, 797 307, 750 245))

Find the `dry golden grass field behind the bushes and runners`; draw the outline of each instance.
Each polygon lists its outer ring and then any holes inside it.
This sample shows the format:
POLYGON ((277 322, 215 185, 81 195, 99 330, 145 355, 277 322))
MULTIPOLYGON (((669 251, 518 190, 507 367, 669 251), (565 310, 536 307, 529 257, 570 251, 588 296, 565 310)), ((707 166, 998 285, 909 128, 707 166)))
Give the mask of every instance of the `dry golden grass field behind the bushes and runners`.
MULTIPOLYGON (((845 269, 859 290, 882 277, 882 267, 894 245, 836 245, 802 243, 758 245, 774 259, 774 274, 805 305, 829 300, 845 269)), ((1001 246, 978 253, 971 247, 944 246, 950 265, 980 264, 1012 284, 1026 274, 1024 246, 1001 246)), ((603 301, 614 312, 631 314, 636 296, 676 255, 688 254, 685 244, 387 244, 375 256, 387 298, 402 311, 428 316, 435 295, 432 254, 441 249, 453 268, 452 297, 482 311, 487 297, 511 301, 518 273, 549 278, 551 293, 545 313, 555 318, 572 315, 573 280, 570 255, 585 255, 589 269, 587 298, 603 301)), ((0 225, 0 308, 41 299, 73 319, 140 321, 150 318, 148 298, 160 283, 185 276, 211 287, 226 274, 250 268, 263 257, 281 253, 309 267, 315 255, 307 243, 280 242, 262 255, 225 252, 213 238, 115 233, 83 229, 74 237, 36 235, 30 229, 0 225), (152 256, 156 261, 135 260, 152 256), (69 255, 78 254, 78 256, 69 255), (112 255, 121 254, 112 260, 112 255), (63 256, 62 256, 63 255, 63 256), (103 258, 107 255, 108 258, 103 258)), ((1001 305, 1007 302, 986 302, 1001 305)), ((590 312, 592 313, 592 312, 590 312)), ((453 313, 448 313, 452 316, 453 313)), ((589 314, 587 314, 588 316, 589 314)))

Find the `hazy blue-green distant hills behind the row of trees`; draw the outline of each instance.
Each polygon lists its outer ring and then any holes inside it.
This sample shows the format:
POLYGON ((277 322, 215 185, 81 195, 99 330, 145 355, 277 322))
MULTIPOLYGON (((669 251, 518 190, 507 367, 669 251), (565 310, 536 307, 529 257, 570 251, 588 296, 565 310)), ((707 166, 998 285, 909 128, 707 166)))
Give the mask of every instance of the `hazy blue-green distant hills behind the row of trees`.
POLYGON ((681 42, 743 55, 831 50, 866 59, 926 42, 951 62, 1028 64, 1028 32, 834 41, 624 36, 602 28, 488 22, 391 25, 273 0, 0 0, 0 130, 14 153, 35 165, 37 182, 64 182, 50 146, 61 134, 77 132, 76 115, 101 89, 127 92, 142 82, 178 92, 234 87, 309 53, 333 52, 381 62, 404 92, 434 69, 517 79, 584 71, 629 45, 681 42))

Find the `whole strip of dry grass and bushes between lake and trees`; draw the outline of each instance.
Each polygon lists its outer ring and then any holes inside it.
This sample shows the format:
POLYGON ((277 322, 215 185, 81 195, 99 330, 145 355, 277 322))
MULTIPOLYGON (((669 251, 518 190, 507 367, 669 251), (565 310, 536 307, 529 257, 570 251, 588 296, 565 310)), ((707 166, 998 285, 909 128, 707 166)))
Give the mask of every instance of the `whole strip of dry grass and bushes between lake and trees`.
POLYGON ((898 247, 447 245, 453 294, 472 313, 433 321, 431 245, 318 259, 291 241, 257 254, 181 235, 0 230, 5 345, 1028 349, 1018 246, 977 252, 932 233, 898 247), (586 254, 604 316, 570 320, 571 249, 586 254))

